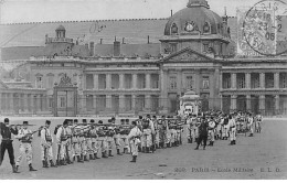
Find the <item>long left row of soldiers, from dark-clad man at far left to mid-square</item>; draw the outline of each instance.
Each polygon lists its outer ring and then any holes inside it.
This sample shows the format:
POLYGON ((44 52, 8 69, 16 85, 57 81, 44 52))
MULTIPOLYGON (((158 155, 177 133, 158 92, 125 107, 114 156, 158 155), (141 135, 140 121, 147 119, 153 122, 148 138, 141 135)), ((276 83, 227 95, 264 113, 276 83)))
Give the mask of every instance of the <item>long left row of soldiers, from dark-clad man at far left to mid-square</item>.
POLYGON ((29 122, 24 121, 21 129, 15 126, 9 126, 9 119, 1 123, 1 136, 4 137, 1 142, 1 162, 6 149, 8 149, 10 163, 14 173, 19 172, 19 165, 23 157, 26 158, 30 171, 36 171, 32 166, 32 140, 33 133, 39 132, 41 137, 41 158, 43 168, 56 168, 59 165, 72 164, 73 162, 84 162, 102 158, 114 157, 114 147, 118 155, 131 153, 136 162, 138 152, 150 153, 159 148, 171 148, 182 144, 183 123, 179 119, 166 118, 157 119, 156 116, 146 118, 141 116, 130 125, 129 119, 121 119, 120 125, 116 125, 116 119, 111 118, 108 123, 94 119, 87 123, 83 120, 78 123, 77 119, 66 119, 63 125, 54 130, 55 142, 50 129, 51 121, 46 120, 45 126, 39 130, 28 129, 29 122), (3 129, 3 130, 2 130, 3 129), (3 131, 3 132, 2 132, 3 131), (19 139, 20 155, 14 162, 11 133, 19 139), (56 147, 56 163, 53 162, 53 143, 56 147), (3 144, 3 146, 2 146, 3 144), (121 146, 124 151, 121 153, 121 146))

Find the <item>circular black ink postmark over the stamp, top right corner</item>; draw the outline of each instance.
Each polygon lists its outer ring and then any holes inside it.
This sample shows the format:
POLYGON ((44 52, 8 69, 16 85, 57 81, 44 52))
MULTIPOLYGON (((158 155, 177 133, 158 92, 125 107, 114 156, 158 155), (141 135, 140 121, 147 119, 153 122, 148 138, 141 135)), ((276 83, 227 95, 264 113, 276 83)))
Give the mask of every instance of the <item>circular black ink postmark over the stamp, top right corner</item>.
POLYGON ((287 2, 262 0, 247 12, 243 22, 243 39, 261 55, 287 53, 287 2))

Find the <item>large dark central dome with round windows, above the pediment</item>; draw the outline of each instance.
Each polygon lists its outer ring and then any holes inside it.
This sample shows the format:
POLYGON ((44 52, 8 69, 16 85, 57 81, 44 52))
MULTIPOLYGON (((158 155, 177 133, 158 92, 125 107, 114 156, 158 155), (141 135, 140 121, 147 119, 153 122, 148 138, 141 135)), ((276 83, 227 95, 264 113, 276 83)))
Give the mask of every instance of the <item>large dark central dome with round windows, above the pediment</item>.
POLYGON ((166 24, 164 35, 184 34, 192 31, 222 34, 222 18, 210 10, 205 0, 190 0, 188 8, 173 14, 166 24))

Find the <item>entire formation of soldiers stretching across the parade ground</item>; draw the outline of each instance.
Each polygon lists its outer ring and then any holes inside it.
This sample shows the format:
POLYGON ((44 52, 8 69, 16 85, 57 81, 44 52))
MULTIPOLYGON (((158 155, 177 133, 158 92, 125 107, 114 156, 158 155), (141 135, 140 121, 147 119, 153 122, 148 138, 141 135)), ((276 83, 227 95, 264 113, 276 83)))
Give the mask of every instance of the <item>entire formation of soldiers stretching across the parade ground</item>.
POLYGON ((45 126, 32 131, 28 129, 29 122, 23 121, 21 129, 19 126, 9 126, 9 119, 4 119, 4 123, 0 122, 2 136, 0 165, 3 161, 6 149, 8 150, 10 164, 13 173, 19 173, 19 166, 23 157, 26 158, 30 171, 36 171, 32 166, 32 140, 33 134, 39 133, 41 137, 41 159, 43 168, 56 168, 61 165, 73 164, 74 162, 84 163, 85 161, 107 159, 113 155, 113 149, 116 148, 117 155, 131 154, 136 162, 138 152, 151 153, 157 149, 166 149, 182 144, 182 132, 184 123, 188 125, 188 142, 196 142, 195 150, 200 144, 205 150, 206 141, 213 146, 215 140, 227 140, 230 144, 236 144, 236 134, 251 132, 254 133, 254 125, 256 132, 261 131, 262 116, 253 116, 248 112, 233 112, 225 115, 223 112, 205 112, 200 115, 187 115, 184 118, 166 117, 152 118, 147 115, 129 121, 129 119, 120 119, 120 123, 116 125, 113 117, 107 123, 102 120, 95 122, 91 119, 87 122, 83 119, 65 119, 63 125, 56 126, 53 133, 50 129, 51 121, 46 120, 45 126), (14 161, 11 133, 15 136, 20 143, 20 155, 14 161), (55 160, 53 162, 53 143, 56 146, 55 160), (124 151, 121 153, 121 148, 124 151))

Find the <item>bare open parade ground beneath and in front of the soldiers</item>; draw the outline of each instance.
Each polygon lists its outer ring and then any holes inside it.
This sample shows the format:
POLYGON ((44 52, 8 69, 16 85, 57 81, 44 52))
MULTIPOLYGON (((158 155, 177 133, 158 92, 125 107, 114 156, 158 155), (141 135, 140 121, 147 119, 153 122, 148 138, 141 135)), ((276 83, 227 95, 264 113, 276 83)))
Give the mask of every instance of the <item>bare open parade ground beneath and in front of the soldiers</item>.
MULTIPOLYGON (((43 118, 11 118, 12 123, 21 123, 23 119, 41 126, 43 118)), ((52 130, 63 118, 51 118, 52 130)), ((31 128, 36 129, 36 127, 31 128)), ((91 179, 127 179, 127 180, 162 180, 162 179, 286 179, 287 177, 287 120, 268 118, 263 121, 262 133, 255 137, 237 134, 236 146, 228 146, 227 140, 217 140, 214 147, 195 151, 195 144, 187 143, 177 148, 157 150, 155 153, 140 153, 137 163, 130 163, 129 154, 115 155, 108 159, 91 160, 56 169, 43 169, 40 160, 40 138, 33 141, 33 165, 39 171, 29 172, 23 161, 19 174, 11 173, 8 153, 0 179, 6 180, 91 180, 91 179)), ((185 134, 185 131, 184 131, 185 134)), ((19 142, 14 141, 15 157, 19 142)), ((54 149, 55 150, 55 149, 54 149)), ((114 151, 115 154, 115 151, 114 151)))

